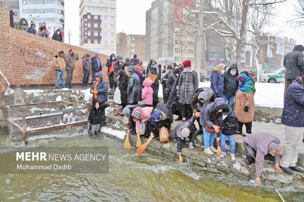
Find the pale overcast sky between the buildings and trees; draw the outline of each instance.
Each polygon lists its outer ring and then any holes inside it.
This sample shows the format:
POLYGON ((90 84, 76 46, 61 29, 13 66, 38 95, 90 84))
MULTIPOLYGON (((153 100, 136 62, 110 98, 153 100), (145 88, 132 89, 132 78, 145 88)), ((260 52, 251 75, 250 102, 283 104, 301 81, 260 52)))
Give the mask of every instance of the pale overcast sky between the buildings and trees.
MULTIPOLYGON (((116 31, 127 34, 145 34, 146 11, 151 7, 153 0, 117 0, 117 26, 116 31)), ((281 3, 277 6, 277 15, 272 24, 265 30, 281 37, 297 40, 298 44, 304 45, 304 26, 294 28, 286 22, 291 19, 294 4, 291 1, 281 3)), ((71 44, 79 45, 79 0, 65 0, 65 36, 71 30, 71 44)), ((65 39, 68 42, 68 38, 65 39)))

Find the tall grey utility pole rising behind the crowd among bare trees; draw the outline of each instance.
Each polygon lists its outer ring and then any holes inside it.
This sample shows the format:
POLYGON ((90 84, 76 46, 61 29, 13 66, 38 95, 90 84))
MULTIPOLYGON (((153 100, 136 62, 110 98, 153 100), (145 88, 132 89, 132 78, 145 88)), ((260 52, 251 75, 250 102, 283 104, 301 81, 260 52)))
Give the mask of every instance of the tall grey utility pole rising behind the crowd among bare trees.
POLYGON ((195 60, 195 71, 198 73, 199 82, 200 82, 200 75, 201 75, 201 66, 205 66, 202 64, 202 57, 205 57, 205 50, 204 48, 204 38, 203 38, 203 7, 204 7, 204 0, 200 2, 200 14, 199 14, 199 26, 198 26, 198 37, 197 37, 197 48, 196 48, 196 60, 195 60))

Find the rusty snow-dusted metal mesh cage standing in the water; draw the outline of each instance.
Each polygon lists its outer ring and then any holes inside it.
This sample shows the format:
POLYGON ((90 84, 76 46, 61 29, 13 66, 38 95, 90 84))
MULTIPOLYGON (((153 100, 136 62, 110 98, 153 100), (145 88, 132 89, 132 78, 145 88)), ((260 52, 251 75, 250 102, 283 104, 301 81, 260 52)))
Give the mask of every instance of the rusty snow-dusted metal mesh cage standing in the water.
POLYGON ((66 101, 6 106, 9 135, 25 144, 88 132, 86 107, 66 101))

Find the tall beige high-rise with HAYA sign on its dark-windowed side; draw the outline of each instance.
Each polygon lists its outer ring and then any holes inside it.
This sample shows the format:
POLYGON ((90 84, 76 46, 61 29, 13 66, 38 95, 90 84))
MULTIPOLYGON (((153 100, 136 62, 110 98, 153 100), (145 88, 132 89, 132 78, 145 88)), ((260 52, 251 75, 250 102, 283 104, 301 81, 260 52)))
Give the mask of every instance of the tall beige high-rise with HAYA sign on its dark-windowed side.
POLYGON ((80 0, 80 46, 116 54, 116 0, 80 0))

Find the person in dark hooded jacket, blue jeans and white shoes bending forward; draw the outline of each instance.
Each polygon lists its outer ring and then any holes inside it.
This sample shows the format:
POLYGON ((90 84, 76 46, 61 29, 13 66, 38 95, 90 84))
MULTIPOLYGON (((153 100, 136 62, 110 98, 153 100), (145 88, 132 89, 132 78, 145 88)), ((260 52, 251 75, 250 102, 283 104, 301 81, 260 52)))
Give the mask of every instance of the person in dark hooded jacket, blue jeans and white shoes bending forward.
POLYGON ((200 118, 200 121, 203 126, 203 152, 213 155, 217 152, 217 149, 214 148, 215 133, 221 133, 219 125, 223 121, 223 113, 229 111, 229 106, 223 98, 216 98, 214 102, 208 104, 202 111, 203 120, 200 118))

